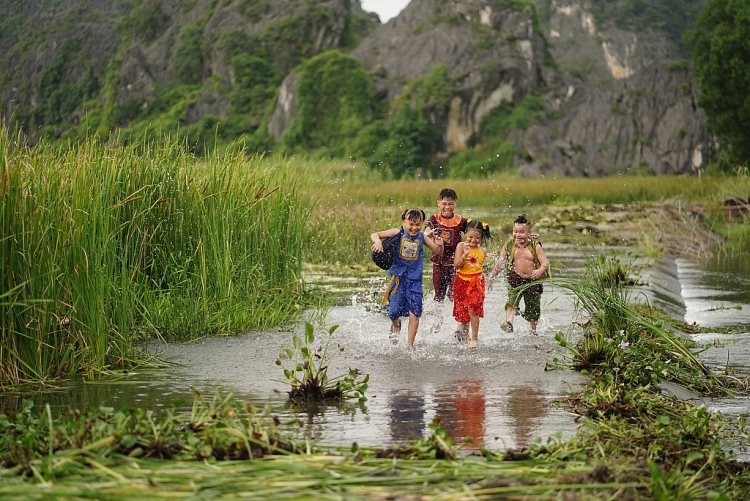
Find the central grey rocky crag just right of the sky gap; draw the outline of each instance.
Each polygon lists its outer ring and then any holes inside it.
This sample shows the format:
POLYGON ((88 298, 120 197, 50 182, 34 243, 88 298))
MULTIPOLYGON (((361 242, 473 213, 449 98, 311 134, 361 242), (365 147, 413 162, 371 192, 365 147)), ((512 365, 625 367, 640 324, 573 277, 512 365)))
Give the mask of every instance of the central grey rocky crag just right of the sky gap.
POLYGON ((498 10, 488 0, 412 0, 355 51, 378 72, 376 95, 393 100, 405 82, 436 64, 448 66, 454 93, 448 110, 428 110, 443 128, 448 151, 467 147, 483 116, 544 83, 545 42, 534 31, 533 12, 498 10), (432 21, 431 21, 432 20, 432 21))

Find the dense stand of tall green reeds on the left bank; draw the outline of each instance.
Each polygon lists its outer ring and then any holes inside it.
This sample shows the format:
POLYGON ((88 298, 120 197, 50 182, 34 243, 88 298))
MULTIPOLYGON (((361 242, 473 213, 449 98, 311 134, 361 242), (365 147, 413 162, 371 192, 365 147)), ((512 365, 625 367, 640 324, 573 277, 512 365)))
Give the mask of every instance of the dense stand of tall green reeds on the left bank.
POLYGON ((147 335, 300 309, 308 171, 171 139, 25 147, 0 130, 0 385, 120 367, 147 335))

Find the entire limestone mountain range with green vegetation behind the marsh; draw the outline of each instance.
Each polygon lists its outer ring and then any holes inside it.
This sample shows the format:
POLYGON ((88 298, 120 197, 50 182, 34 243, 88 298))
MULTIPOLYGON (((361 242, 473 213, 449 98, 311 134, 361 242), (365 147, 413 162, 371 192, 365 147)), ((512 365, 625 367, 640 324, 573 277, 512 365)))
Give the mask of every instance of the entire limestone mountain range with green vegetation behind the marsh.
POLYGON ((703 0, 0 0, 0 118, 391 175, 700 172, 703 0))

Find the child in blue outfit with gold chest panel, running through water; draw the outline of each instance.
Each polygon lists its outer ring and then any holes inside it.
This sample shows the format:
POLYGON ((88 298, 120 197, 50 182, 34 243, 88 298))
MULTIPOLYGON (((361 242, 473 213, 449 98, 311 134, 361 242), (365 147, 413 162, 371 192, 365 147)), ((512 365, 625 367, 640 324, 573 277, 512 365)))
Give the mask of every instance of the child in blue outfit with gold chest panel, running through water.
POLYGON ((443 242, 440 235, 433 238, 423 233, 425 213, 422 209, 410 208, 401 214, 401 228, 378 231, 370 235, 372 250, 383 252, 381 238, 401 234, 401 240, 388 270, 390 280, 386 287, 383 304, 388 303, 388 317, 391 319, 390 339, 398 343, 401 332, 401 317, 409 317, 406 344, 414 346, 417 337, 419 317, 422 316, 422 265, 426 245, 434 254, 442 254, 443 242), (402 231, 403 230, 403 231, 402 231))

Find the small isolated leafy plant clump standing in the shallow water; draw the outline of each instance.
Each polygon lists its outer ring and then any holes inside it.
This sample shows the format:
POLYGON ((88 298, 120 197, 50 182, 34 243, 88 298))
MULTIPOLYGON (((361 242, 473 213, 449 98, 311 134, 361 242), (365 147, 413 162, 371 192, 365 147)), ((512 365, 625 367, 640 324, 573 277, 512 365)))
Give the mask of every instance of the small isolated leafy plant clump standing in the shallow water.
POLYGON ((331 347, 333 333, 338 325, 328 329, 328 338, 316 337, 310 322, 305 323, 305 338, 292 337, 292 348, 285 348, 276 359, 276 365, 284 368, 286 381, 291 386, 289 398, 294 402, 320 402, 326 400, 346 400, 356 398, 367 400, 367 382, 370 375, 362 377, 358 369, 349 369, 347 374, 329 377, 328 368, 336 351, 344 351, 341 346, 331 347), (288 366, 285 366, 288 364, 288 366))

